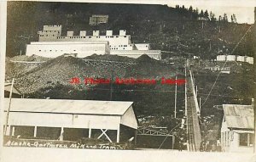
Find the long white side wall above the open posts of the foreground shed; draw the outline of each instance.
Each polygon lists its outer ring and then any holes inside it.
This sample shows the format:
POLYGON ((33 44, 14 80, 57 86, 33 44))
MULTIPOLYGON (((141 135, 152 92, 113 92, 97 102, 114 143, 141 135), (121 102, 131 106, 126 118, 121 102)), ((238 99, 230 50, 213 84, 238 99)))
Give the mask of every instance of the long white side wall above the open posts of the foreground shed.
MULTIPOLYGON (((5 113, 6 115, 6 113, 5 113)), ((70 115, 47 113, 9 113, 10 126, 49 126, 118 130, 118 115, 70 115)))

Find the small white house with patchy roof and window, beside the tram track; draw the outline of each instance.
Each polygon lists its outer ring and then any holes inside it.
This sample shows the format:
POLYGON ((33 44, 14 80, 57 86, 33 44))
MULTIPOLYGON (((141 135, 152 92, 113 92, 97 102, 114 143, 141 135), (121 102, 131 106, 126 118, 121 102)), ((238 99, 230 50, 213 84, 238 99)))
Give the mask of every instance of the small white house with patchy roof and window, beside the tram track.
POLYGON ((221 146, 224 152, 253 153, 254 116, 252 105, 224 104, 221 146))

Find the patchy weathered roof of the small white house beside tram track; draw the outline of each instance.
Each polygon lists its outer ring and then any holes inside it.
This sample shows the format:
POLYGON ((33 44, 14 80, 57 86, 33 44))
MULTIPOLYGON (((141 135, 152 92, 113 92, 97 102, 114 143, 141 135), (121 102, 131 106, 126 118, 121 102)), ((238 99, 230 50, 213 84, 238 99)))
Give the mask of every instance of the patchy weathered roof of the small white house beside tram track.
POLYGON ((230 128, 254 129, 253 106, 224 104, 224 117, 230 128))

